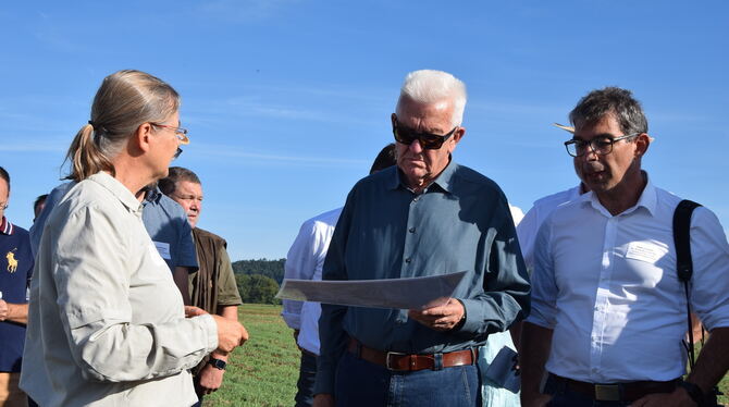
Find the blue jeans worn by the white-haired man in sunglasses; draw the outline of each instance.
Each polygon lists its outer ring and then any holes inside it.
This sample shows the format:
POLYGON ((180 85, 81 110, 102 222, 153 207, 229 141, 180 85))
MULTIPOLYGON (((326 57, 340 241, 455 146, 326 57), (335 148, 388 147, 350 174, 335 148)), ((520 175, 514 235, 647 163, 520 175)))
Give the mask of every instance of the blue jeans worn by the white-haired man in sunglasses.
POLYGON ((480 406, 475 366, 393 372, 345 351, 336 369, 337 407, 480 406))

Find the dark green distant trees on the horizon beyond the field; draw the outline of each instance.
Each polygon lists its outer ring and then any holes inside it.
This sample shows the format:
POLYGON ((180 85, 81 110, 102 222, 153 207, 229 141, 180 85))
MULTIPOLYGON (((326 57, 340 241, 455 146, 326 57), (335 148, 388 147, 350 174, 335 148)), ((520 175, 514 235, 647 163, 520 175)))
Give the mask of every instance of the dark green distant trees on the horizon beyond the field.
POLYGON ((284 280, 285 261, 258 259, 233 262, 240 299, 252 304, 281 304, 275 295, 279 284, 284 280))

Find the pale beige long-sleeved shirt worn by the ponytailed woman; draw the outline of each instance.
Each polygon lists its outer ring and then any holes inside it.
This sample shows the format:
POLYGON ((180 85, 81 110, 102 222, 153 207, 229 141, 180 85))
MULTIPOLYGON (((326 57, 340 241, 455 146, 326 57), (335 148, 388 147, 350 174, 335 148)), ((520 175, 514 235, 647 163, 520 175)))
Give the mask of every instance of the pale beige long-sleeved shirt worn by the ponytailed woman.
POLYGON ((218 346, 210 316, 185 319, 141 206, 98 173, 51 212, 30 283, 21 387, 44 407, 190 406, 187 369, 218 346))

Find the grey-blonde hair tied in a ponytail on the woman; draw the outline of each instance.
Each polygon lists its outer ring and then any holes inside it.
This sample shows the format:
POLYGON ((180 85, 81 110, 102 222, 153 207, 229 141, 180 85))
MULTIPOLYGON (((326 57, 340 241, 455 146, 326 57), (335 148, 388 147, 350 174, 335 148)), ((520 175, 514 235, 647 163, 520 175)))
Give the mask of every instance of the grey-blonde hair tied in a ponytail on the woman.
POLYGON ((99 171, 114 174, 111 160, 144 123, 159 123, 180 109, 180 95, 163 81, 124 70, 103 78, 91 106, 91 120, 74 137, 66 153, 67 180, 79 182, 99 171))

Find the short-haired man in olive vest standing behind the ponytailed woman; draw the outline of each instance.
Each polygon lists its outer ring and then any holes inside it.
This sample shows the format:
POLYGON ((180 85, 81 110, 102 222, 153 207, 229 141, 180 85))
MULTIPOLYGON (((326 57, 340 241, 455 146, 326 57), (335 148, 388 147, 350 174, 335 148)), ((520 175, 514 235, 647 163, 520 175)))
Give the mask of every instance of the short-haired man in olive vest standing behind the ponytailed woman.
MULTIPOLYGON (((185 211, 195 237, 195 247, 200 268, 189 274, 191 305, 234 321, 238 320, 242 304, 235 284, 233 266, 227 256, 224 238, 198 227, 202 213, 202 183, 193 171, 171 166, 169 175, 159 182, 160 189, 174 199, 185 211)), ((218 391, 223 383, 227 354, 215 350, 193 369, 195 391, 201 405, 202 396, 218 391)))

